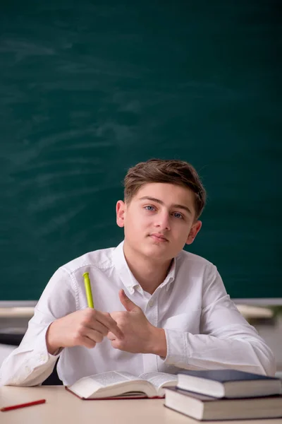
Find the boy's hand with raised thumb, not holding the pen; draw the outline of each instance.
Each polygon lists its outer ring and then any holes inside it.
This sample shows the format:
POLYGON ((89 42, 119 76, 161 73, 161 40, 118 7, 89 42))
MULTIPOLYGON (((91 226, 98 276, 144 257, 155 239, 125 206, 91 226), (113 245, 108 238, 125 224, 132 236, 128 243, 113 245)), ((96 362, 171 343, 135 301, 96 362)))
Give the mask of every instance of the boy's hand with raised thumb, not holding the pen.
POLYGON ((153 326, 142 309, 135 305, 123 290, 119 290, 118 295, 125 311, 111 312, 111 317, 123 332, 124 338, 119 339, 109 331, 107 337, 111 346, 130 353, 154 353, 166 357, 164 329, 153 326))

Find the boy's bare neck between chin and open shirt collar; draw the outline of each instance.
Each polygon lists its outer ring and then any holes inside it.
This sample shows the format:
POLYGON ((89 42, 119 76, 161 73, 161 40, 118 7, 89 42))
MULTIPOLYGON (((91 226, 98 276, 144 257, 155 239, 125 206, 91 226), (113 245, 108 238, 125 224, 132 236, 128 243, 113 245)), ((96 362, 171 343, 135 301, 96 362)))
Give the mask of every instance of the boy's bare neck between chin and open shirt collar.
POLYGON ((135 276, 142 289, 151 295, 165 280, 171 267, 171 259, 168 261, 152 261, 152 259, 133 252, 126 243, 123 245, 123 253, 130 271, 135 276))

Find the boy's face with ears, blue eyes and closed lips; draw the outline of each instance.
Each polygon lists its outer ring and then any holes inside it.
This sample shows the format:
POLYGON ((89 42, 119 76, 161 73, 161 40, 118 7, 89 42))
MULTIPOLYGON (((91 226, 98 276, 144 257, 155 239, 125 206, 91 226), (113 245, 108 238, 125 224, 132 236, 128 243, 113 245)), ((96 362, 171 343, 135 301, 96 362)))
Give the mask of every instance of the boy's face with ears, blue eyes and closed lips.
POLYGON ((116 222, 132 252, 160 261, 176 257, 202 226, 195 220, 192 190, 159 182, 140 187, 129 204, 119 200, 116 222))

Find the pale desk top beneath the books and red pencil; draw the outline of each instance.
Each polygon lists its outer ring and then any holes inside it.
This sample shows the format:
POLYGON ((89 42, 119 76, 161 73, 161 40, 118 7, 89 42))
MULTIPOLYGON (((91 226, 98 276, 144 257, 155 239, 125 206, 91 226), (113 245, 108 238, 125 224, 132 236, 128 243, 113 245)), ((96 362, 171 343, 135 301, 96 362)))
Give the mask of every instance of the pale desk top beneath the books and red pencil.
MULTIPOLYGON (((1 424, 197 424, 168 408, 163 399, 124 401, 82 401, 64 387, 0 387, 0 408, 46 399, 42 405, 0 412, 1 424)), ((281 424, 281 419, 211 421, 212 424, 281 424)), ((204 423, 207 423, 205 421, 204 423)))

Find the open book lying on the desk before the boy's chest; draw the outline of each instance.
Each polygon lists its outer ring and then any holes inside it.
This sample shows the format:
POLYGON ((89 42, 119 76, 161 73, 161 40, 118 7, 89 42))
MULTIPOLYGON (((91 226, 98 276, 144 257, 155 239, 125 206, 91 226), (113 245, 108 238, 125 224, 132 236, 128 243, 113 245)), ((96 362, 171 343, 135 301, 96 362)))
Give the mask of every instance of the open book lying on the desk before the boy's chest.
POLYGON ((177 376, 146 372, 138 377, 125 371, 108 371, 82 377, 66 387, 80 399, 128 399, 164 397, 164 387, 176 385, 177 376))

